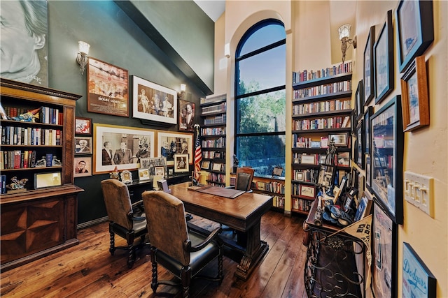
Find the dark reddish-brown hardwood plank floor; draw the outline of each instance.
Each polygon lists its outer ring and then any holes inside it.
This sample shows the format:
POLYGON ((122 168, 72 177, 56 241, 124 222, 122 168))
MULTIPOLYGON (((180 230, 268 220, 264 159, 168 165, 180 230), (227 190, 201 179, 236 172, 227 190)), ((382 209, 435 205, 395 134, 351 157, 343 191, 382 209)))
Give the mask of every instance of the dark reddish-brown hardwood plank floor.
MULTIPOLYGON (((237 263, 224 257, 221 285, 195 279, 191 297, 307 297, 303 283, 303 221, 302 217, 267 212, 262 217, 261 238, 269 244, 269 251, 248 280, 235 277, 237 263)), ((203 228, 213 225, 197 216, 193 222, 203 228)), ((3 272, 1 297, 179 297, 180 289, 176 287, 160 285, 156 294, 151 290, 148 248, 137 252, 132 269, 127 268, 125 251, 116 251, 113 256, 109 253, 108 225, 79 230, 78 246, 3 272)), ((232 232, 226 233, 230 236, 232 232)), ((125 241, 116 237, 116 243, 124 245, 125 241)), ((213 272, 215 267, 206 270, 213 272)), ((159 278, 174 276, 159 267, 159 278)))

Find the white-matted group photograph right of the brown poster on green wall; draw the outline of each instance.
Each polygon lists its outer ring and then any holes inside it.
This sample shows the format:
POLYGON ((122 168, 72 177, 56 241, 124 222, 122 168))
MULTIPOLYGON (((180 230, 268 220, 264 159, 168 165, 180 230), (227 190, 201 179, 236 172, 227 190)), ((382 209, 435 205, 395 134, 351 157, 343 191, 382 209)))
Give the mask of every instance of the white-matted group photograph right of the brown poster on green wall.
POLYGON ((132 117, 177 124, 177 92, 142 79, 132 78, 132 117))

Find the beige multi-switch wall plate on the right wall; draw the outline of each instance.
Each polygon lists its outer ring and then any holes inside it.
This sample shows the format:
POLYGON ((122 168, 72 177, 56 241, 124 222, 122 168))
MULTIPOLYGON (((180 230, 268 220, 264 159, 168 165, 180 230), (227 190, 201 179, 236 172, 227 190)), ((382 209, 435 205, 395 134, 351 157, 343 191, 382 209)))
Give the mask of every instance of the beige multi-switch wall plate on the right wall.
POLYGON ((404 193, 405 200, 421 211, 434 217, 434 179, 432 177, 405 172, 404 193))

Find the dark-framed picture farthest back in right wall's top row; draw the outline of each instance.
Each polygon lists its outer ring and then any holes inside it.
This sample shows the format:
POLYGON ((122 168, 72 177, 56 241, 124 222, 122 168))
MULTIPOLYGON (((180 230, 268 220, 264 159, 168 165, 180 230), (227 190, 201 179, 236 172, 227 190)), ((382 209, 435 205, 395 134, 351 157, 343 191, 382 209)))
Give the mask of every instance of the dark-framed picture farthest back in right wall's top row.
POLYGON ((370 27, 364 48, 364 105, 369 105, 374 98, 374 76, 373 70, 373 44, 375 39, 375 27, 370 27))

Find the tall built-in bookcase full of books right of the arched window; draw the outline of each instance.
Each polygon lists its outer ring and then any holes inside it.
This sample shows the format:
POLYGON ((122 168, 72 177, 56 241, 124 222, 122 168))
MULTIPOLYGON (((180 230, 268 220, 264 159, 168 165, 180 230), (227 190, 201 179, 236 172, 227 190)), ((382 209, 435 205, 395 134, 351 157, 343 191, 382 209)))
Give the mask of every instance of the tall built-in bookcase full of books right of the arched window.
POLYGON ((319 164, 326 156, 329 135, 345 135, 337 146, 337 171, 350 170, 351 62, 322 70, 293 73, 293 164, 291 211, 308 214, 317 194, 319 164))

